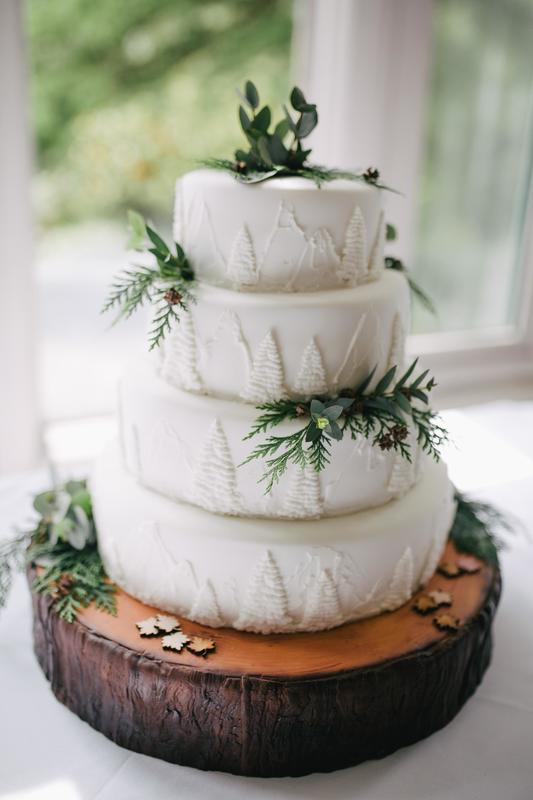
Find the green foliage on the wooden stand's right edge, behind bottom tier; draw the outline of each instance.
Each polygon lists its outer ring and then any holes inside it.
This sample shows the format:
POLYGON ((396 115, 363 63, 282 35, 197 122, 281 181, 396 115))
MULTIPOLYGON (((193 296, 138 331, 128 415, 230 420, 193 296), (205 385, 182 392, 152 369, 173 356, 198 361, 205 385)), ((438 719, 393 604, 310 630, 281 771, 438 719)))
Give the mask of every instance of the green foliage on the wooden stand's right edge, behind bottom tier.
POLYGON ((471 500, 455 491, 457 512, 450 538, 461 553, 476 556, 487 564, 498 565, 503 547, 500 532, 512 530, 508 519, 489 503, 471 500))

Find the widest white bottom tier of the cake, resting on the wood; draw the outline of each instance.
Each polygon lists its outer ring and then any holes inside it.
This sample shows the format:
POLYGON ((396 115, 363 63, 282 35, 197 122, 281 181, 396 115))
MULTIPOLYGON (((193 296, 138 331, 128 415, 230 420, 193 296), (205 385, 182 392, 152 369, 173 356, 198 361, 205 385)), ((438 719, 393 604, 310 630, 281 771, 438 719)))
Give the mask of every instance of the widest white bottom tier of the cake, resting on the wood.
POLYGON ((223 517, 140 486, 113 446, 91 481, 98 544, 126 592, 211 627, 333 628, 405 603, 433 574, 455 504, 444 464, 401 499, 318 520, 223 517))

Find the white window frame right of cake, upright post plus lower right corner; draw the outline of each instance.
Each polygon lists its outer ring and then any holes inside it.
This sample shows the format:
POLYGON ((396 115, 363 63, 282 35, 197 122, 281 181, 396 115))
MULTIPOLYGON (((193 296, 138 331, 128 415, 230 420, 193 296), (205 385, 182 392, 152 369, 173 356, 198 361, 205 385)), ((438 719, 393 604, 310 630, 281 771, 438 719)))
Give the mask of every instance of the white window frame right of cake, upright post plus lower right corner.
MULTIPOLYGON (((295 78, 320 109, 310 142, 316 160, 353 168, 356 153, 359 166, 379 164, 402 187, 404 197, 387 198, 387 212, 400 231, 395 252, 406 263, 417 221, 434 8, 433 0, 295 0, 295 78)), ((520 261, 516 324, 409 337, 409 353, 438 378, 438 405, 533 396, 533 186, 520 261)))

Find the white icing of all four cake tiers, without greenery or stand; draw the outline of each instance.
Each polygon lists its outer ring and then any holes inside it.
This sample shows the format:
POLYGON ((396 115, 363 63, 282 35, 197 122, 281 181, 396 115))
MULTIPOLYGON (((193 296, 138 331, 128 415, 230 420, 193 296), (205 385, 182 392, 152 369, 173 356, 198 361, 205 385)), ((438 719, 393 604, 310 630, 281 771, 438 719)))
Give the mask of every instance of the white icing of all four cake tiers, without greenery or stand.
POLYGON ((384 269, 382 199, 342 179, 177 181, 196 302, 126 372, 91 486, 105 569, 131 595, 212 627, 315 631, 395 609, 433 574, 453 491, 412 429, 410 459, 346 436, 267 493, 243 463, 256 406, 403 369, 409 289, 384 269))

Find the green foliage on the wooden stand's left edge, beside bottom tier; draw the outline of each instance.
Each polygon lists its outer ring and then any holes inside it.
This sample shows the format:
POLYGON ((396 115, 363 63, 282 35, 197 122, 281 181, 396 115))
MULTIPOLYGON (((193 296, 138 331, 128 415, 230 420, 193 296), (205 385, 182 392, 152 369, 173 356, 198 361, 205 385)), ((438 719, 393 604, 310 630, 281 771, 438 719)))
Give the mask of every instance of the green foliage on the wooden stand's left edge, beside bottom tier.
POLYGON ((38 494, 33 501, 35 527, 0 542, 0 607, 5 605, 13 573, 37 567, 33 590, 52 598, 59 616, 73 622, 91 603, 116 614, 116 587, 105 575, 96 546, 91 497, 85 481, 38 494))

